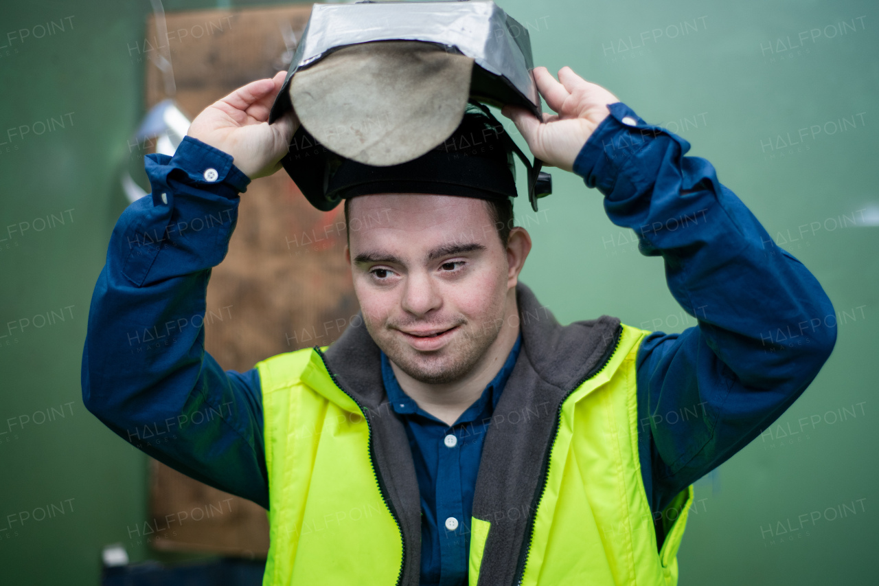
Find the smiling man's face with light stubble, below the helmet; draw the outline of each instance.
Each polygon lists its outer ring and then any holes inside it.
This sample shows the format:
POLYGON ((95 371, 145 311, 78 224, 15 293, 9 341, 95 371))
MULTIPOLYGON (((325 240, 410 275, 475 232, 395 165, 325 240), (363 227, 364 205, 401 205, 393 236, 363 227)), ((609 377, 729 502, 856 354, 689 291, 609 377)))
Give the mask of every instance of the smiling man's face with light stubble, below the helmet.
POLYGON ((510 275, 486 202, 361 195, 348 224, 354 291, 375 343, 421 382, 467 375, 497 340, 519 273, 510 275))

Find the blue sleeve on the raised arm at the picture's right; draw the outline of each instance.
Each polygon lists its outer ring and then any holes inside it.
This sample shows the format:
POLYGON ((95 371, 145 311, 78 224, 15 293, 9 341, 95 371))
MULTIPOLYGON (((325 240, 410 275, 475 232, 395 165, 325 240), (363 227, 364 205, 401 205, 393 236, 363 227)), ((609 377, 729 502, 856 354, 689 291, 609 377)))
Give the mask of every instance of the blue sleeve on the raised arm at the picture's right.
POLYGON ((609 106, 575 172, 611 221, 662 256, 697 320, 652 333, 637 359, 639 456, 654 511, 759 435, 817 376, 836 341, 832 304, 690 145, 609 106))

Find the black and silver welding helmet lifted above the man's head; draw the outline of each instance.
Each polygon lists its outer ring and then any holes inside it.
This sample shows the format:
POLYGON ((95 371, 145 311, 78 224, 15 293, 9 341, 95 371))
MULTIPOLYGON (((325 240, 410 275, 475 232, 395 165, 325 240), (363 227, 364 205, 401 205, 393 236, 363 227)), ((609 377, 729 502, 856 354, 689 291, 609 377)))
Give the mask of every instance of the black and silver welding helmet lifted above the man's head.
POLYGON ((486 105, 540 118, 527 29, 487 0, 315 4, 269 123, 301 122, 284 169, 317 209, 376 193, 551 192, 486 105))

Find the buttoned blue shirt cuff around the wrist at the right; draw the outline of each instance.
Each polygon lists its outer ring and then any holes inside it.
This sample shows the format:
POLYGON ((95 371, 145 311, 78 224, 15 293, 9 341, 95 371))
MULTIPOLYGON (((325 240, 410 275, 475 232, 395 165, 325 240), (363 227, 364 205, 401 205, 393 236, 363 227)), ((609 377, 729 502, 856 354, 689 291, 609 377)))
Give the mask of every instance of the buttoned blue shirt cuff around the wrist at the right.
POLYGON ((608 199, 622 200, 633 190, 648 188, 656 180, 665 143, 681 143, 685 152, 689 143, 665 128, 643 121, 622 102, 607 108, 610 114, 574 159, 574 172, 587 187, 597 187, 608 199))

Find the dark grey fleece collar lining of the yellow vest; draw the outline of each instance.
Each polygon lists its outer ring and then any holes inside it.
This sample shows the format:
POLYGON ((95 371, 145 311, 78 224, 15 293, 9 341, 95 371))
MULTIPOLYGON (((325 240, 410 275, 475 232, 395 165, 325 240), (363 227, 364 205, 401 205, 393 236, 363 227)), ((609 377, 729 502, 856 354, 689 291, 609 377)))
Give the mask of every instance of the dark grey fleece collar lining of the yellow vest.
MULTIPOLYGON (((516 296, 522 350, 485 436, 473 501, 473 516, 491 522, 480 586, 512 584, 519 577, 559 407, 607 362, 620 335, 619 319, 602 316, 561 326, 527 286, 519 283, 516 296)), ((382 384, 381 352, 366 327, 349 327, 323 358, 342 390, 367 412, 382 493, 403 534, 400 583, 417 586, 418 479, 403 422, 382 384)))

